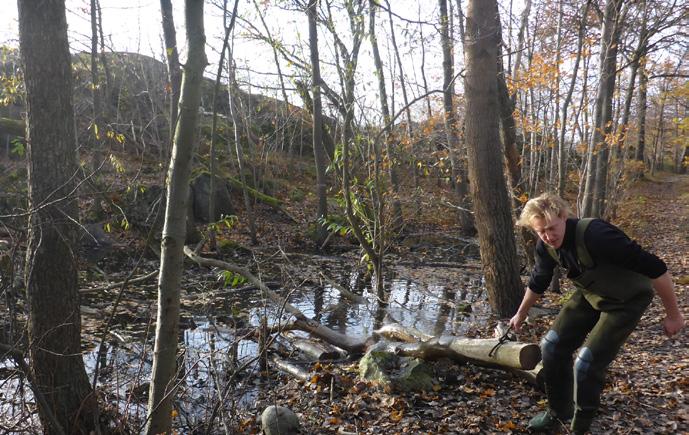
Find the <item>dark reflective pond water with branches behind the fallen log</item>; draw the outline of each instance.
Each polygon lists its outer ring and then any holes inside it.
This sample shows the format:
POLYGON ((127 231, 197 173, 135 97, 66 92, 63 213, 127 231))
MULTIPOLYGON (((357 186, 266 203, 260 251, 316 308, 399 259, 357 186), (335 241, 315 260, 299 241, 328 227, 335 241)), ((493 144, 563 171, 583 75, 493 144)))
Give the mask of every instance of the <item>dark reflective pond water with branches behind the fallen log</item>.
MULTIPOLYGON (((281 296, 299 308, 307 317, 348 336, 366 338, 385 323, 397 322, 425 334, 464 335, 471 325, 489 317, 489 307, 482 287, 478 263, 456 267, 396 266, 388 270, 386 302, 371 292, 360 273, 346 267, 324 267, 321 271, 339 285, 362 295, 365 303, 355 304, 332 285, 298 286, 281 296)), ((211 280, 212 272, 208 272, 211 280)), ((198 276, 197 276, 198 278, 198 276)), ((196 302, 198 305, 198 298, 196 302)), ((203 305, 203 304, 201 304, 203 305)), ((194 315, 180 331, 183 357, 178 374, 179 412, 187 422, 202 422, 212 412, 212 404, 223 395, 225 406, 251 407, 260 390, 266 387, 258 375, 255 341, 237 335, 260 324, 285 322, 274 304, 266 304, 258 290, 227 290, 220 297, 207 296, 204 314, 194 315), (237 368, 241 368, 237 372, 237 368), (229 386, 231 385, 231 388, 229 386), (229 394, 225 395, 224 393, 229 394)), ((119 396, 121 412, 136 419, 145 416, 147 380, 152 363, 152 328, 144 333, 145 324, 113 328, 113 338, 101 359, 99 382, 119 396), (132 394, 132 390, 135 390, 132 394), (137 391, 138 390, 138 391, 137 391)), ((303 335, 293 332, 295 335, 303 335)), ((292 351, 290 360, 305 368, 309 362, 289 348, 289 342, 276 339, 274 347, 292 351)), ((85 361, 92 373, 97 359, 94 350, 85 361)))

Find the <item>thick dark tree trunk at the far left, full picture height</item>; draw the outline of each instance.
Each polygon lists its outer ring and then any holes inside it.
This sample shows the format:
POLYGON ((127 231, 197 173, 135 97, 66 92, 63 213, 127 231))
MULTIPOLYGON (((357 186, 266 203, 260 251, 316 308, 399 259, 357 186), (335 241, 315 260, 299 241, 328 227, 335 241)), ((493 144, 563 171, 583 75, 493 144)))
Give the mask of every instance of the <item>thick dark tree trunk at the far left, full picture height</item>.
POLYGON ((81 357, 75 252, 79 171, 64 1, 18 2, 26 85, 29 240, 25 281, 29 359, 46 434, 98 430, 81 357))

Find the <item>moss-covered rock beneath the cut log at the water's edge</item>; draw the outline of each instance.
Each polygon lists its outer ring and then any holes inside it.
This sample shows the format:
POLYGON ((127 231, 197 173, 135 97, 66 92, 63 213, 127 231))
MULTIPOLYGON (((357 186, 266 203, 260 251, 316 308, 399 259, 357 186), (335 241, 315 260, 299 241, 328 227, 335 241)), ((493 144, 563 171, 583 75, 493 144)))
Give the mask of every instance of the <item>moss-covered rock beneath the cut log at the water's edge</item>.
POLYGON ((423 391, 433 388, 433 371, 421 359, 395 355, 374 346, 359 361, 359 377, 397 391, 423 391))

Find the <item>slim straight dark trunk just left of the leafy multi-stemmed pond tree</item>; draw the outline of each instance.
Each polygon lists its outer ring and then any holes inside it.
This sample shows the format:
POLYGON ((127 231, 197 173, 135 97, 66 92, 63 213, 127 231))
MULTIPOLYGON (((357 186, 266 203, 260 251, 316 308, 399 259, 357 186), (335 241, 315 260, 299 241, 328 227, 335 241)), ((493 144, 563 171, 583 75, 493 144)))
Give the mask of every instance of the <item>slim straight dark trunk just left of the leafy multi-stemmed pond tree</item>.
POLYGON ((321 66, 318 57, 318 0, 309 0, 306 8, 309 21, 309 53, 311 55, 311 92, 313 93, 313 156, 316 161, 316 244, 321 246, 326 237, 324 225, 328 218, 328 199, 325 185, 325 150, 323 149, 323 108, 321 103, 321 66))

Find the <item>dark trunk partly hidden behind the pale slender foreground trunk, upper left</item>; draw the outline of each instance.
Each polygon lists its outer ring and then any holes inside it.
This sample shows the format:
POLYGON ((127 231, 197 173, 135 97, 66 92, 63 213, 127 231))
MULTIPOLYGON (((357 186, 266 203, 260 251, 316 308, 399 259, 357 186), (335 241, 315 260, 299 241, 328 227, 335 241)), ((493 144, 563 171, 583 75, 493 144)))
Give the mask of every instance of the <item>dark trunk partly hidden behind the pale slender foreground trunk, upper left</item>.
POLYGON ((180 70, 179 64, 179 52, 177 51, 177 32, 175 30, 175 20, 172 13, 171 0, 160 0, 160 13, 163 18, 163 38, 165 39, 165 57, 167 59, 167 75, 169 81, 168 92, 170 94, 169 143, 162 147, 160 160, 161 163, 167 164, 171 144, 175 135, 175 127, 177 125, 179 94, 182 86, 182 71, 180 70))

